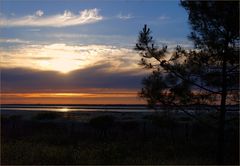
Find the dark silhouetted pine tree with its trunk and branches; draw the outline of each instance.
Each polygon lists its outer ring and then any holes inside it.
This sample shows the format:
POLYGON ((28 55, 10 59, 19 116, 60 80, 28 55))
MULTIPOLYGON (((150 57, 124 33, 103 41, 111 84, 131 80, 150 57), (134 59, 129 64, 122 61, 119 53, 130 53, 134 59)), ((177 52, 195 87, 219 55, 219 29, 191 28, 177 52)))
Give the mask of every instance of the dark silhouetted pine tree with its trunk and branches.
POLYGON ((181 6, 189 15, 195 49, 177 46, 169 52, 167 46, 156 46, 145 25, 135 50, 142 56, 140 64, 153 73, 143 79, 140 96, 152 107, 214 106, 219 113, 217 160, 223 164, 226 106, 239 104, 239 3, 181 1, 181 6))

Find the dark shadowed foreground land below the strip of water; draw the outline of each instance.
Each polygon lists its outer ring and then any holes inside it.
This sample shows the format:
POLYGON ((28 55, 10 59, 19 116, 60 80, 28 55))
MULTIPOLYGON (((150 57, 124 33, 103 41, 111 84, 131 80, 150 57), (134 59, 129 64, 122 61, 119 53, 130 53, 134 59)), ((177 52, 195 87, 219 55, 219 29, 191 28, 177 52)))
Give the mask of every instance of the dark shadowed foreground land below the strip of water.
MULTIPOLYGON (((1 164, 216 164, 214 114, 199 115, 210 126, 166 113, 93 114, 2 115, 1 164)), ((238 165, 238 114, 225 140, 225 163, 238 165)))

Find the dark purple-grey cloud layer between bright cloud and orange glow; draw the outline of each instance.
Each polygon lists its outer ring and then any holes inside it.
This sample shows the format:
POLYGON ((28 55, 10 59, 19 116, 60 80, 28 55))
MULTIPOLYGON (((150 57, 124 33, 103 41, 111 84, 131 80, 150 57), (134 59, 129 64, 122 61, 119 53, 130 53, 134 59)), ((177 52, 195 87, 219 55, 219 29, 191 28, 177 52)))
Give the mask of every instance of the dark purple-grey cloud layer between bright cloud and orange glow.
POLYGON ((109 72, 107 64, 61 74, 26 68, 1 69, 2 92, 62 91, 84 88, 139 89, 139 71, 109 72), (136 74, 138 73, 138 74, 136 74))

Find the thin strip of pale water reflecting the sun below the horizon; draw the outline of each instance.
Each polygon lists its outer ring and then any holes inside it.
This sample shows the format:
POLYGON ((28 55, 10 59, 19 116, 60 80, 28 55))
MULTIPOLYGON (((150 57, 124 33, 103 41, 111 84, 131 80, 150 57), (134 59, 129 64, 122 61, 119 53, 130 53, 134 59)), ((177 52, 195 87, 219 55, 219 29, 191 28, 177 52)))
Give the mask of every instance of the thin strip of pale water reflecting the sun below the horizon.
MULTIPOLYGON (((146 105, 0 105, 1 112, 8 111, 54 111, 54 112, 154 112, 146 105)), ((166 107, 159 106, 157 111, 164 111, 166 107)), ((176 108, 170 109, 173 112, 181 112, 176 108)), ((210 106, 202 107, 201 110, 196 106, 187 107, 186 110, 191 113, 212 112, 210 106)), ((229 106, 228 112, 239 112, 238 106, 229 106)), ((216 111, 216 110, 215 110, 216 111)))

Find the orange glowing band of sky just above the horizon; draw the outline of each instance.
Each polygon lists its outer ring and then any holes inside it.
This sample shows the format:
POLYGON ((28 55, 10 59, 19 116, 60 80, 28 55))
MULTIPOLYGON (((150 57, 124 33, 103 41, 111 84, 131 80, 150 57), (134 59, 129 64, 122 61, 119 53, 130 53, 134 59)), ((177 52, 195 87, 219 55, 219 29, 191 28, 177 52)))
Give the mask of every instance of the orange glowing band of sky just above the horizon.
POLYGON ((143 104, 136 92, 2 93, 1 104, 143 104))

